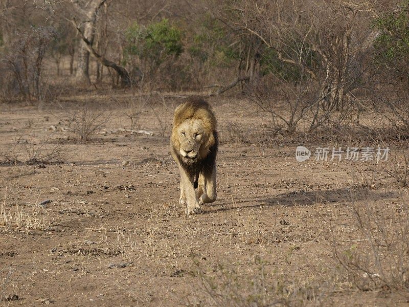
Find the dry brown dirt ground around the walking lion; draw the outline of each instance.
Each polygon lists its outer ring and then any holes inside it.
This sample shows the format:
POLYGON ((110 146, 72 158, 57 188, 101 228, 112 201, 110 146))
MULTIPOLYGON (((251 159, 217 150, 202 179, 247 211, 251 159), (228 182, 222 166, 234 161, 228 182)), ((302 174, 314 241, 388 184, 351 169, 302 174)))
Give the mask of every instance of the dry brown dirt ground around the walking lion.
POLYGON ((349 161, 297 162, 303 144, 256 142, 253 131, 268 117, 234 98, 212 98, 221 135, 218 199, 187 217, 168 149, 180 101, 143 107, 134 130, 153 135, 132 133, 125 106, 110 106, 110 120, 87 142, 75 140, 63 120, 73 109, 69 99, 63 110, 2 106, 3 157, 58 146, 61 156, 0 165, 2 214, 11 216, 0 222, 0 304, 206 306, 219 305, 212 296, 221 292, 225 305, 247 305, 232 292, 251 292, 261 268, 279 304, 407 305, 390 289, 356 287, 333 252, 362 240, 353 204, 395 212, 407 203, 407 188, 390 178, 365 188, 365 161, 357 163, 362 173, 349 161), (351 189, 354 183, 362 188, 351 189), (223 270, 230 273, 220 277, 223 270))

